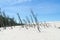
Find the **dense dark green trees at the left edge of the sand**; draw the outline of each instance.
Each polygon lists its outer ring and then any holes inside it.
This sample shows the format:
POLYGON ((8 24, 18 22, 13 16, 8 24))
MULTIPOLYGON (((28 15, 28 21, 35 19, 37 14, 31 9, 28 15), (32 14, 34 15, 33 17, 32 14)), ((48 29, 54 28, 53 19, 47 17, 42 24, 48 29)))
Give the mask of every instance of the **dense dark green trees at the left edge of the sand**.
POLYGON ((8 27, 18 25, 14 18, 6 16, 5 12, 1 11, 0 8, 0 27, 8 27))

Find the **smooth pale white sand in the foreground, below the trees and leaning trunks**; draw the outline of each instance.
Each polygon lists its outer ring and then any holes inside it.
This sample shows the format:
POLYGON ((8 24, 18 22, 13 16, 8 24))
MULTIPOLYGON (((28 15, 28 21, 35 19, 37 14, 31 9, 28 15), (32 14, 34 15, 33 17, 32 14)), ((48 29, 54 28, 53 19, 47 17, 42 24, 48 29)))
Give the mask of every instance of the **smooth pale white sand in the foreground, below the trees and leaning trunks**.
POLYGON ((16 26, 13 29, 0 31, 0 40, 60 40, 60 29, 42 28, 41 32, 38 32, 34 28, 27 30, 16 26))

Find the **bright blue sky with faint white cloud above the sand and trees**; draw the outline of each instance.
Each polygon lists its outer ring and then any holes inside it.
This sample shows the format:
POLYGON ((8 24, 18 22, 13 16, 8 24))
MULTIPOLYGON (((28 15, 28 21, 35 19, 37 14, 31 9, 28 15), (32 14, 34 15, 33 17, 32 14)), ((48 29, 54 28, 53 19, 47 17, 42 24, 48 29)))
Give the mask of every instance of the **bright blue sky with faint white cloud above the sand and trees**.
POLYGON ((60 21, 60 0, 0 0, 0 8, 18 20, 31 14, 32 9, 39 21, 60 21))

